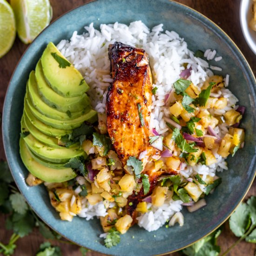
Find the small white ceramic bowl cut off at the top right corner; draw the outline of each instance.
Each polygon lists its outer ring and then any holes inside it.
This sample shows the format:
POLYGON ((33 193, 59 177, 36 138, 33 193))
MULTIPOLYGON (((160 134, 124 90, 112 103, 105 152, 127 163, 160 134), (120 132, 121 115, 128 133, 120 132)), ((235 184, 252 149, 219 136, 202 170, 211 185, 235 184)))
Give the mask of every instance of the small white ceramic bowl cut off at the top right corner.
POLYGON ((249 27, 249 22, 252 19, 252 3, 253 0, 241 0, 240 24, 245 40, 254 54, 256 54, 256 31, 249 27))

